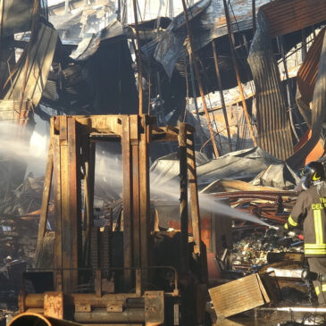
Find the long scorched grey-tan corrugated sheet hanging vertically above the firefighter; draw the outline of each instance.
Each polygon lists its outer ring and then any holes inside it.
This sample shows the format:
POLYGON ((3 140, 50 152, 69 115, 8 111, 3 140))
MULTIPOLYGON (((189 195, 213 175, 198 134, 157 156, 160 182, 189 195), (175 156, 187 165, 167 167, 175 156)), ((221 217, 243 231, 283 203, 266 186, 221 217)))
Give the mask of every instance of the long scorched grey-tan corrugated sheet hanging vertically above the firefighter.
POLYGON ((281 160, 293 154, 288 105, 280 83, 280 71, 272 53, 268 22, 258 13, 248 63, 253 73, 257 108, 257 142, 281 160))

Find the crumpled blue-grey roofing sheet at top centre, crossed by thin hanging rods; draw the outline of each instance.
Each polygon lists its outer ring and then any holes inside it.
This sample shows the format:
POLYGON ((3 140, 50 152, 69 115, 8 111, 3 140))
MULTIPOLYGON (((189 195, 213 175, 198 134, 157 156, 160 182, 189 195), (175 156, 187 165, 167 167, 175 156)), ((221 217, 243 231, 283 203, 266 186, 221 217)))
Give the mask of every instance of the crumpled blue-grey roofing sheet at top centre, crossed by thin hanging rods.
MULTIPOLYGON (((256 8, 266 4, 269 0, 256 0, 256 8)), ((251 0, 232 0, 232 10, 235 16, 231 18, 231 30, 238 32, 240 30, 251 29, 253 27, 252 19, 252 1, 251 0)), ((219 38, 228 34, 225 20, 224 7, 219 0, 202 0, 188 9, 188 18, 193 31, 193 40, 195 50, 206 46, 213 38, 219 38), (196 23, 192 21, 196 15, 196 23)), ((187 30, 184 26, 184 16, 180 13, 172 22, 165 34, 149 42, 142 47, 142 52, 146 56, 155 56, 155 60, 163 64, 164 70, 168 76, 174 70, 174 65, 180 58, 187 55, 184 40, 187 37, 187 30), (156 46, 157 45, 157 46, 156 46), (153 51, 155 49, 155 54, 153 51)))

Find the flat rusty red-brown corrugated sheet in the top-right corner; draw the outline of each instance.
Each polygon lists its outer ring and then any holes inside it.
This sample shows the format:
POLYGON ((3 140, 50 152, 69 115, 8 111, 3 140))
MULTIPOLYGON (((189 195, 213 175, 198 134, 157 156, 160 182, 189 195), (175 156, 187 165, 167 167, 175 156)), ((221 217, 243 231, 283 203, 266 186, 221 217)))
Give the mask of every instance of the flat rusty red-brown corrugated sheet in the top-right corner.
POLYGON ((270 36, 277 37, 326 20, 325 0, 276 0, 264 4, 262 11, 270 36))

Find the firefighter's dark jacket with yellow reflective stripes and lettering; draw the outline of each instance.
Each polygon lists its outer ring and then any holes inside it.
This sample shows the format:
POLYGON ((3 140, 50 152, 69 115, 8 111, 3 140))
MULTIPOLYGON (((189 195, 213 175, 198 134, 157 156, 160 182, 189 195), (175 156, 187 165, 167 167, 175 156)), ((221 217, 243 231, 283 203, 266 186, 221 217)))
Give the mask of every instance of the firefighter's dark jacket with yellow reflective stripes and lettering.
POLYGON ((298 197, 285 229, 303 227, 305 256, 326 256, 326 182, 311 186, 298 197))

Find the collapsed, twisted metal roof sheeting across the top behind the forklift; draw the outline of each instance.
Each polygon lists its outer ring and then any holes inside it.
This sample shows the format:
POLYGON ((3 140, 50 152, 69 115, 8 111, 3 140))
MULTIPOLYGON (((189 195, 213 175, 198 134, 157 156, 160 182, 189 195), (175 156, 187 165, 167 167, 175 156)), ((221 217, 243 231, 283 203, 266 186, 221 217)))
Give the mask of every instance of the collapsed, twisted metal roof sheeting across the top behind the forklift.
MULTIPOLYGON (((138 112, 135 78, 138 68, 134 61, 136 26, 131 18, 130 3, 121 7, 109 0, 92 4, 49 1, 48 7, 38 1, 23 3, 8 1, 4 5, 2 42, 6 49, 1 53, 2 120, 27 121, 33 110, 48 118, 49 110, 45 105, 66 114, 138 112), (47 21, 48 13, 54 26, 47 21), (15 63, 13 50, 24 46, 20 60, 15 63), (38 51, 42 48, 45 52, 42 50, 40 54, 38 51), (33 66, 42 61, 45 64, 41 67, 33 66), (35 69, 38 69, 37 78, 29 73, 35 69)), ((315 33, 326 20, 325 2, 313 0, 311 4, 304 0, 272 3, 257 0, 253 8, 251 1, 230 1, 230 30, 222 2, 201 0, 188 7, 193 51, 199 57, 208 100, 211 101, 215 90, 220 90, 222 96, 223 90, 239 85, 237 73, 242 82, 253 80, 255 83, 255 87, 251 84, 251 95, 245 94, 241 104, 242 107, 247 104, 250 119, 236 122, 237 144, 233 148, 230 146, 229 151, 252 146, 253 143, 238 139, 247 138, 247 126, 253 125, 253 137, 258 146, 282 161, 287 160, 292 167, 305 163, 315 146, 319 146, 318 153, 321 152, 324 97, 318 99, 313 92, 324 92, 323 30, 315 38, 297 74, 297 88, 296 80, 290 80, 286 68, 285 81, 280 79, 280 64, 277 63, 281 59, 287 64, 289 49, 304 42, 302 34, 315 33), (257 13, 257 17, 253 13, 257 13), (233 44, 229 37, 234 39, 233 44), (213 60, 212 41, 217 49, 217 63, 213 60), (230 58, 233 47, 238 71, 230 58), (216 66, 221 74, 220 83, 216 66), (302 138, 300 143, 299 138, 302 138), (295 147, 296 143, 301 145, 295 147)), ((142 5, 144 11, 138 13, 137 28, 144 71, 143 111, 155 113, 159 123, 177 123, 181 116, 188 115, 185 107, 188 111, 189 97, 194 97, 195 121, 199 123, 196 140, 209 155, 209 135, 205 132, 207 126, 199 119, 202 114, 196 104, 199 86, 189 58, 188 31, 182 8, 173 1, 162 6, 139 3, 140 7, 142 5)), ((239 103, 239 98, 233 102, 241 107, 239 103)), ((222 104, 223 110, 224 107, 222 104)), ((212 104, 210 109, 212 113, 212 104)), ((224 118, 227 116, 228 113, 224 113, 224 118)), ((215 120, 215 114, 212 117, 215 120)), ((221 153, 227 152, 224 145, 227 142, 221 139, 235 137, 226 135, 224 130, 230 128, 228 125, 224 128, 221 120, 214 122, 213 132, 221 153)))

